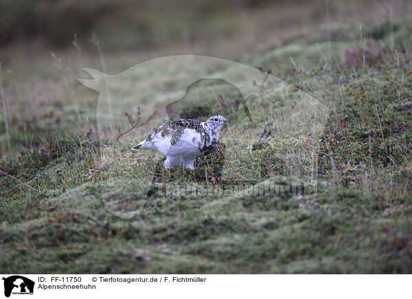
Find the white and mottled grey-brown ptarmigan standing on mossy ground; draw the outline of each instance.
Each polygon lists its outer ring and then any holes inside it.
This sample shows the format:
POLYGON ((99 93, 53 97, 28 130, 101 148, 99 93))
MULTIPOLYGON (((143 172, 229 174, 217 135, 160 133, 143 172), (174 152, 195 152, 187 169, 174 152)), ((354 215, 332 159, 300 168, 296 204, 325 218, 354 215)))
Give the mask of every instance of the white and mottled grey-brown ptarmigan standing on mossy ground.
POLYGON ((194 159, 212 152, 219 143, 219 133, 225 117, 216 115, 205 122, 194 119, 168 121, 152 130, 148 138, 132 150, 158 150, 166 156, 165 168, 181 165, 194 169, 194 159))

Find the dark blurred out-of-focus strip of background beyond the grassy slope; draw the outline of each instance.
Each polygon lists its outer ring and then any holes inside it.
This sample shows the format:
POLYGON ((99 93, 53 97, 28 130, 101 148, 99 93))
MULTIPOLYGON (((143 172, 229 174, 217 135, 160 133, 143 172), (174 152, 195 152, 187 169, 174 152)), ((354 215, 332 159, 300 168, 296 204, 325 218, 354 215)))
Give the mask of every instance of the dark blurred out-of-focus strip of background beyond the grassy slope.
MULTIPOLYGON (((184 50, 233 57, 280 46, 295 38, 291 32, 302 34, 323 23, 356 21, 353 25, 358 27, 361 20, 409 16, 410 4, 404 0, 3 0, 0 57, 11 59, 9 51, 15 47, 31 54, 71 49, 74 40, 82 49, 91 49, 92 33, 105 51, 155 50, 163 55, 184 50)), ((323 36, 328 38, 339 36, 323 36)))

